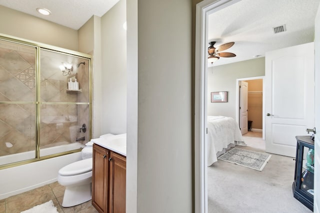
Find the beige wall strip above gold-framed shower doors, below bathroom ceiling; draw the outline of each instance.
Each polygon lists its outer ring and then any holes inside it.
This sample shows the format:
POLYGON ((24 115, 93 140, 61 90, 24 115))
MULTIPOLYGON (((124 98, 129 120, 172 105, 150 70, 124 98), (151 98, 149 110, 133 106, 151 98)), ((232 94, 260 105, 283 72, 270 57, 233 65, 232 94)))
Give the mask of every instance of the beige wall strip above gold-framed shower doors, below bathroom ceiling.
POLYGON ((0 33, 78 51, 77 30, 3 6, 0 33))

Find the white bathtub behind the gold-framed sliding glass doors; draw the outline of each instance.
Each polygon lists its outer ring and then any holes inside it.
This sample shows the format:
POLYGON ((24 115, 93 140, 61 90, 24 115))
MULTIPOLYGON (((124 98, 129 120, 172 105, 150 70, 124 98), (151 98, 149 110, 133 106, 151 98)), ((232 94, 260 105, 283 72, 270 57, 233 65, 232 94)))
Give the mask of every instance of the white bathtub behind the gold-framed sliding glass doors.
MULTIPOLYGON (((58 152, 64 152, 78 148, 78 143, 50 147, 41 149, 41 155, 56 153, 57 149, 59 149, 58 152)), ((15 155, 15 161, 20 158, 18 155, 24 155, 24 153, 15 155)), ((8 156, 6 157, 9 159, 8 156)), ((31 158, 34 158, 34 152, 31 158)), ((2 160, 0 159, 0 162, 2 160)), ((81 160, 81 152, 0 170, 0 200, 56 182, 59 169, 79 160, 81 160)))

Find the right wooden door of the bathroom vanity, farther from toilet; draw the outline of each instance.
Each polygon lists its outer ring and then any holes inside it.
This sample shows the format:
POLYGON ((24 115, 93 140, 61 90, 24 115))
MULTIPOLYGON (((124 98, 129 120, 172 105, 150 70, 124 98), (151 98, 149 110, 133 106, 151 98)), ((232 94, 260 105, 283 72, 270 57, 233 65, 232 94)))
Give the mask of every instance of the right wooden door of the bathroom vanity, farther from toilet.
POLYGON ((109 158, 109 213, 125 213, 126 159, 114 152, 109 158))

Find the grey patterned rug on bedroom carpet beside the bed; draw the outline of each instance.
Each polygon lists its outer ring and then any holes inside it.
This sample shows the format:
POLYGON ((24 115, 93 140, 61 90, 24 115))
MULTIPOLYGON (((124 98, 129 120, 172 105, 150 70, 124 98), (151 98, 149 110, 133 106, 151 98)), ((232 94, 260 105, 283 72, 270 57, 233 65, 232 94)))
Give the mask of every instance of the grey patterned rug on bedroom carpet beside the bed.
POLYGON ((262 171, 271 155, 239 148, 233 148, 218 157, 219 160, 262 171))

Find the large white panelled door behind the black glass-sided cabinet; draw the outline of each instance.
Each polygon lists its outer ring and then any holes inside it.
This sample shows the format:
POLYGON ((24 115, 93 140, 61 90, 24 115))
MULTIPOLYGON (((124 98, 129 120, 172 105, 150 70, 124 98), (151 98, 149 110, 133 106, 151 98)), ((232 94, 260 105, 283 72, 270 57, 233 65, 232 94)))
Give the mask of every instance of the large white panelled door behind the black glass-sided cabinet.
POLYGON ((314 126, 313 42, 265 54, 265 151, 295 157, 297 135, 314 126))

